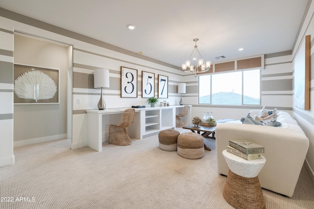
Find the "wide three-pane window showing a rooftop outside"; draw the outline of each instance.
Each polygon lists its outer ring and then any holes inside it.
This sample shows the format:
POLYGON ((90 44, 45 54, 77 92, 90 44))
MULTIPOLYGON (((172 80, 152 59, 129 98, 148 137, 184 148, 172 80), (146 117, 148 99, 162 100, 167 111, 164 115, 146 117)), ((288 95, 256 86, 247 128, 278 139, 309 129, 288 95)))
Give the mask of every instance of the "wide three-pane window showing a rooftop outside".
POLYGON ((261 70, 199 76, 199 103, 260 105, 261 70))

